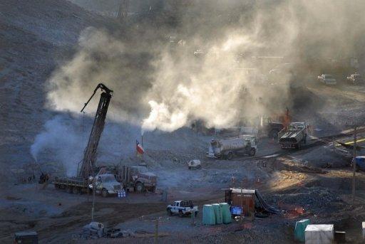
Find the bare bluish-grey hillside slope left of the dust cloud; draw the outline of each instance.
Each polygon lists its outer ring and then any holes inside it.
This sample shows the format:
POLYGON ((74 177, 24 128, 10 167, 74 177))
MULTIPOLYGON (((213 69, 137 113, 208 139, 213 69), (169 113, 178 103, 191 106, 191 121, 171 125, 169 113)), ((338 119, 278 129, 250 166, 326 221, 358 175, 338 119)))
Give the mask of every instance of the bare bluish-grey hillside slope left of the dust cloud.
POLYGON ((1 166, 11 171, 33 161, 29 147, 51 116, 43 109, 46 79, 88 26, 120 28, 69 1, 0 1, 1 166))

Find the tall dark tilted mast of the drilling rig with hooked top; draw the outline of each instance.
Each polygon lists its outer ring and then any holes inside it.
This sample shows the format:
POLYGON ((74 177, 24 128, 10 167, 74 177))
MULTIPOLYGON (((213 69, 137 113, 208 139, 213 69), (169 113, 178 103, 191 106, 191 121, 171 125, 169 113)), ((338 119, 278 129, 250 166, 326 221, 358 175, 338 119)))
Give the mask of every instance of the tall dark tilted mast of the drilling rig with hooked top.
POLYGON ((96 161, 96 150, 98 149, 101 133, 104 129, 106 112, 108 112, 111 93, 113 93, 113 90, 110 90, 108 87, 106 87, 106 85, 99 83, 98 86, 96 86, 93 95, 91 95, 89 100, 83 106, 81 112, 83 112, 85 107, 88 105, 88 102, 90 102, 91 98, 93 98, 99 88, 101 89, 102 93, 99 100, 98 110, 96 110, 93 127, 91 128, 90 137, 88 138, 88 145, 86 146, 83 154, 81 168, 78 171, 78 177, 82 177, 84 179, 88 178, 88 176, 93 175, 93 169, 95 167, 96 161))

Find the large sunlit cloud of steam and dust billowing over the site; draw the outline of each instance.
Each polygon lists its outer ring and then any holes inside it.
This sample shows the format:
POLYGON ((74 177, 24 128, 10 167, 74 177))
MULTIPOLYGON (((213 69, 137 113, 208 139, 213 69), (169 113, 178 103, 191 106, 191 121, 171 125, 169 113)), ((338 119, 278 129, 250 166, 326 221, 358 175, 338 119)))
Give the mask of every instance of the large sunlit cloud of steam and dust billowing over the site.
MULTIPOLYGON (((291 106, 290 83, 304 79, 289 73, 270 85, 269 70, 291 63, 306 73, 311 58, 356 56, 365 43, 364 5, 197 1, 174 5, 173 26, 152 16, 131 23, 128 38, 87 28, 76 54, 48 80, 48 107, 79 112, 103 82, 114 90, 109 119, 143 131, 172 132, 195 120, 230 127, 245 116, 284 111, 291 106), (284 58, 267 64, 259 56, 284 58)), ((94 98, 88 109, 96 110, 97 102, 94 98)))

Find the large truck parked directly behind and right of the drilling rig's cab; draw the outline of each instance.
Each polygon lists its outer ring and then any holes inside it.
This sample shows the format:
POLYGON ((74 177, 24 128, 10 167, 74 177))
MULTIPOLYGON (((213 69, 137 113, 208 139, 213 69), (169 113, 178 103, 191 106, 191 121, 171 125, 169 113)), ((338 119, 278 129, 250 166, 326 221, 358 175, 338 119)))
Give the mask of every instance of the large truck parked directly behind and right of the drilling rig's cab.
POLYGON ((149 172, 145 166, 101 166, 100 171, 115 175, 115 178, 123 185, 125 191, 144 191, 155 192, 157 176, 149 172))

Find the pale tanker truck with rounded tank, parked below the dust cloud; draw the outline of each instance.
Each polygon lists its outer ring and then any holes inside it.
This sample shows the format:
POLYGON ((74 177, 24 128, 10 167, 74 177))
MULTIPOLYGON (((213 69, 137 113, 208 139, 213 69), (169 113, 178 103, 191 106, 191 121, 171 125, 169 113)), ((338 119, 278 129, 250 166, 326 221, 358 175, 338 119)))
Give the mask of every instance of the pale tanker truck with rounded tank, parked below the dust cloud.
POLYGON ((235 155, 248 154, 255 156, 257 140, 252 135, 242 135, 230 139, 212 139, 209 144, 207 157, 231 160, 235 155))

